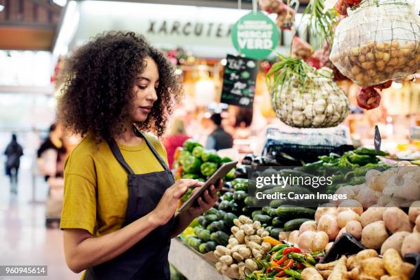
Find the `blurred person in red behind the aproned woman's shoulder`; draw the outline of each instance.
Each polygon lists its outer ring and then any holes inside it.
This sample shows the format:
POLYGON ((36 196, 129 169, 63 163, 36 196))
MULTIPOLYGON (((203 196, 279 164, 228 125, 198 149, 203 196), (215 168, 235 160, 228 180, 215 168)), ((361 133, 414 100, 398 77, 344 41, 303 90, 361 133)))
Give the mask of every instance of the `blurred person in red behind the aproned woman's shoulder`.
POLYGON ((167 162, 169 163, 170 169, 172 169, 172 163, 174 163, 174 153, 176 148, 182 147, 185 140, 190 137, 185 134, 185 126, 183 119, 174 119, 170 134, 163 139, 162 143, 166 149, 167 162))

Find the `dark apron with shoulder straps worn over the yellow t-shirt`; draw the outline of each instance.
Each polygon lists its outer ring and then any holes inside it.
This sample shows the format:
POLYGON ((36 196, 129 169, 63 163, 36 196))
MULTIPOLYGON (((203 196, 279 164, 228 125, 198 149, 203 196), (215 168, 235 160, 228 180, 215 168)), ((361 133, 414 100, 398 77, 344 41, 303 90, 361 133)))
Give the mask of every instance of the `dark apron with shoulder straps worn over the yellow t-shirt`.
MULTIPOLYGON (((138 137, 148 145, 156 159, 163 166, 164 171, 147 174, 135 174, 124 160, 117 143, 108 141, 110 150, 117 161, 128 172, 128 204, 126 220, 122 226, 143 217, 156 208, 165 190, 174 184, 174 176, 165 161, 159 156, 139 130, 135 129, 138 137)), ((139 159, 141 161, 141 159, 139 159)), ((137 244, 115 259, 106 261, 93 268, 89 268, 85 280, 119 280, 119 279, 154 279, 169 280, 170 268, 167 255, 170 250, 170 233, 174 227, 174 218, 167 224, 159 226, 143 237, 137 244)))

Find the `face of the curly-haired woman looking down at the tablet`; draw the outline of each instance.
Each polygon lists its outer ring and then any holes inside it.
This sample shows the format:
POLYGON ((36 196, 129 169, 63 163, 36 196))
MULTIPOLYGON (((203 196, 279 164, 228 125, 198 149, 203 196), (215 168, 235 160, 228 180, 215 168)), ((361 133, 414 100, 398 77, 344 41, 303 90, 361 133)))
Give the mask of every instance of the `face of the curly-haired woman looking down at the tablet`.
POLYGON ((132 121, 145 121, 152 111, 157 100, 159 86, 159 71, 156 62, 150 57, 146 58, 146 66, 142 73, 137 75, 134 85, 134 100, 130 110, 132 121))

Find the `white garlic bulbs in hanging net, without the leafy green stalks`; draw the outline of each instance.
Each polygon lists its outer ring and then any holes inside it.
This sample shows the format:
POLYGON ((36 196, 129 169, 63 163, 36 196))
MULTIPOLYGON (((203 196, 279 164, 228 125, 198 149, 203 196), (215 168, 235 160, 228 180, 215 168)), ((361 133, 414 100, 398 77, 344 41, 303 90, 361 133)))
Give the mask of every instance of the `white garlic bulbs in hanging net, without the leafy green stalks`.
POLYGON ((305 89, 291 80, 272 93, 277 117, 298 128, 337 126, 349 113, 349 100, 332 80, 332 70, 323 67, 309 73, 305 89))

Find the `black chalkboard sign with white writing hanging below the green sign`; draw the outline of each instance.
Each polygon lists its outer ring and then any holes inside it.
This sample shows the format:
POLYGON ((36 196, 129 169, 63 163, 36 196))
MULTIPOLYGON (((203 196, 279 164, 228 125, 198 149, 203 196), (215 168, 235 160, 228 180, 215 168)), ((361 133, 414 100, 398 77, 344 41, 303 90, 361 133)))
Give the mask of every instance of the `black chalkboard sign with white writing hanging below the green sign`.
POLYGON ((252 108, 257 73, 257 60, 228 54, 220 102, 252 108))

